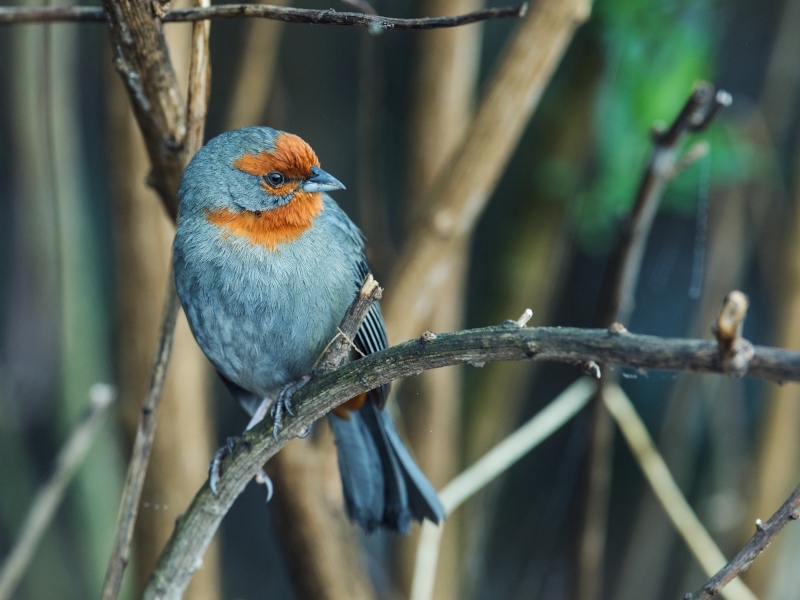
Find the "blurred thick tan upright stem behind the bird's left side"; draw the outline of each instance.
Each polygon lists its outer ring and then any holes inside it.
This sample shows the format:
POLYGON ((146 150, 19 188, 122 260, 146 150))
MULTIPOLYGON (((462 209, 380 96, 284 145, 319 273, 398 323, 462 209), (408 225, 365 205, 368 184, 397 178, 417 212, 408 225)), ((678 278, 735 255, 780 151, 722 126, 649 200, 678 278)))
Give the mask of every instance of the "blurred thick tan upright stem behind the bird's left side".
MULTIPOLYGON (((158 337, 160 299, 167 284, 174 226, 156 194, 145 184, 147 154, 128 99, 117 81, 112 80, 109 85, 115 140, 111 164, 116 213, 119 384, 123 423, 131 444, 158 337)), ((208 375, 206 360, 181 315, 165 383, 159 435, 153 444, 134 532, 139 594, 169 539, 175 519, 207 476, 206 465, 213 453, 208 375)), ((216 546, 206 553, 203 569, 197 573, 186 598, 219 597, 216 554, 216 546)))

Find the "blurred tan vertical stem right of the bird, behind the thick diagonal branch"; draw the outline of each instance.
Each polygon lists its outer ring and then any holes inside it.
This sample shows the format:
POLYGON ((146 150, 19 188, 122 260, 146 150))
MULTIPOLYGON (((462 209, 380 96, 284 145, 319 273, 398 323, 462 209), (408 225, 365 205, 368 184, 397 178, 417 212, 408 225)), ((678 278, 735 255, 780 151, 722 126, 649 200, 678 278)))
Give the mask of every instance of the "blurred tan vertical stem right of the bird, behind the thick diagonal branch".
MULTIPOLYGON (((477 10, 481 0, 426 0, 421 12, 430 16, 477 10)), ((424 213, 424 197, 441 175, 472 119, 480 67, 483 28, 479 25, 430 31, 417 36, 413 75, 414 95, 409 128, 409 177, 413 182, 409 221, 424 213)), ((457 331, 464 325, 465 286, 469 267, 468 243, 457 255, 438 301, 426 317, 431 331, 457 331)), ((409 397, 406 430, 420 467, 435 487, 449 481, 458 469, 461 427, 462 368, 438 369, 419 378, 419 394, 409 397), (432 432, 432 433, 431 433, 432 432)), ((415 386, 416 387, 416 386, 415 386)), ((416 391, 416 390, 410 390, 416 391)), ((400 543, 397 579, 409 589, 419 533, 400 543)), ((445 530, 436 597, 459 597, 459 527, 445 530)))

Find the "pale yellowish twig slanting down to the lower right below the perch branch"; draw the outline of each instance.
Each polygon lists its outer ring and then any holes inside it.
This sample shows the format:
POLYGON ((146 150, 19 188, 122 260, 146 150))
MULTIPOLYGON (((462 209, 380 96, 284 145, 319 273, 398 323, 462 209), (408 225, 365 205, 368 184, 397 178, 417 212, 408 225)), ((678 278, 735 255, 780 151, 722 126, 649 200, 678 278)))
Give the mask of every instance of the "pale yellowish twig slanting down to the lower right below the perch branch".
MULTIPOLYGON (((622 388, 612 384, 603 390, 603 401, 619 426, 636 462, 639 463, 650 488, 686 542, 689 551, 708 576, 716 573, 725 564, 725 555, 711 539, 678 484, 675 483, 667 463, 658 452, 630 399, 622 388)), ((728 600, 757 600, 755 594, 741 579, 731 582, 723 595, 728 600)))

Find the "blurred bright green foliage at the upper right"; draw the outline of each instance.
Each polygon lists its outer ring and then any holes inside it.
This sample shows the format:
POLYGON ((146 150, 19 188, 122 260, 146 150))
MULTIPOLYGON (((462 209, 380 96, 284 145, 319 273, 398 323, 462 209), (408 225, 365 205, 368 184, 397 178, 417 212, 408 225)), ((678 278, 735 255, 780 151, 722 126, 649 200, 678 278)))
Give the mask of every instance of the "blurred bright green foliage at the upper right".
MULTIPOLYGON (((553 160, 540 166, 537 184, 574 202, 578 241, 584 250, 605 253, 615 225, 631 207, 652 143, 654 124, 669 123, 695 82, 714 79, 719 37, 709 0, 599 0, 590 35, 598 41, 603 73, 593 115, 589 172, 553 160)), ((720 121, 686 147, 705 139, 711 151, 670 183, 662 208, 691 213, 703 184, 712 186, 757 177, 764 163, 755 147, 730 123, 720 121), (708 164, 706 164, 708 162, 708 164), (710 166, 710 171, 709 171, 710 166)))

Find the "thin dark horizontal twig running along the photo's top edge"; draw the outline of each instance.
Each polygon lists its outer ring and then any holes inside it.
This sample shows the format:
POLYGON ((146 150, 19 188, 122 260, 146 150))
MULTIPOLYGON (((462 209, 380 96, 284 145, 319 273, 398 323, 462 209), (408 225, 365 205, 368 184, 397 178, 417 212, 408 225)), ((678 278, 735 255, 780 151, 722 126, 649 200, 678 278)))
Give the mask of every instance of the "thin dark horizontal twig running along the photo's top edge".
MULTIPOLYGON (((261 18, 287 23, 309 23, 312 25, 344 25, 349 27, 367 27, 370 29, 394 29, 408 31, 413 29, 441 29, 444 27, 460 27, 487 21, 489 19, 505 19, 521 17, 527 10, 527 4, 487 8, 464 15, 452 17, 432 17, 421 19, 397 19, 380 17, 366 13, 336 12, 333 9, 312 10, 292 8, 288 6, 271 6, 269 4, 218 4, 212 7, 194 7, 168 10, 164 12, 164 23, 185 23, 187 21, 204 21, 207 19, 241 19, 261 18)), ((41 7, 2 7, 0 8, 0 25, 20 23, 105 23, 106 13, 102 8, 89 6, 41 6, 41 7)))

